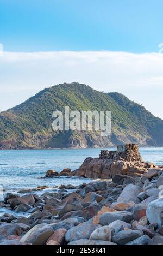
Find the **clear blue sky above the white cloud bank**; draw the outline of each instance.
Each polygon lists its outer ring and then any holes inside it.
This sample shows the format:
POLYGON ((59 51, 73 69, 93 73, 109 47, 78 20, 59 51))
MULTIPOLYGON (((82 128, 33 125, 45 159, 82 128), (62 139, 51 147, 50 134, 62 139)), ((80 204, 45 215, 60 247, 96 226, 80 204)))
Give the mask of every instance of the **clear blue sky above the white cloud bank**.
POLYGON ((0 0, 5 51, 156 52, 162 0, 0 0))

